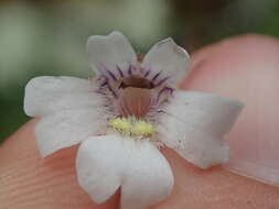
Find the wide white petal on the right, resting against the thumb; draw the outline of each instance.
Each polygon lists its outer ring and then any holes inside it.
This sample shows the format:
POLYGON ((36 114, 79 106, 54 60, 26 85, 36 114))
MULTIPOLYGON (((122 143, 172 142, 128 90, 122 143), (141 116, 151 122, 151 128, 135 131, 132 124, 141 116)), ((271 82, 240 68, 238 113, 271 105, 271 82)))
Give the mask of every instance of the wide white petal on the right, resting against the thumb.
POLYGON ((228 160, 223 135, 232 129, 242 108, 242 102, 216 95, 174 91, 163 108, 158 130, 168 146, 206 168, 228 160))

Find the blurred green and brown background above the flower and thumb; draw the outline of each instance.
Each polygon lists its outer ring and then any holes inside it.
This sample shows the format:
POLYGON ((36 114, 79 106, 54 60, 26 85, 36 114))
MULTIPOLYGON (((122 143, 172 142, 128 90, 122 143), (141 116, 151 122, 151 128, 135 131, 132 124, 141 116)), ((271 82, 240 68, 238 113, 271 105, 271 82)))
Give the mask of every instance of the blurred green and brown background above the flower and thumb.
POLYGON ((146 53, 172 36, 193 52, 243 34, 279 37, 278 0, 0 1, 0 142, 29 120, 24 86, 40 75, 88 77, 89 35, 125 33, 146 53))

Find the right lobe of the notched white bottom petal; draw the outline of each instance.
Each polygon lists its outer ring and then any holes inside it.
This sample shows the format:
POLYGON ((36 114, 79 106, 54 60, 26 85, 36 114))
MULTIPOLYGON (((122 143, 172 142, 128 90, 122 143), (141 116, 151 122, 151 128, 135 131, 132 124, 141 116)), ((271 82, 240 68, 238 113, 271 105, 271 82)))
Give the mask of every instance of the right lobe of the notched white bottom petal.
POLYGON ((173 187, 172 170, 164 156, 151 143, 135 145, 121 187, 122 209, 149 208, 167 198, 173 187))

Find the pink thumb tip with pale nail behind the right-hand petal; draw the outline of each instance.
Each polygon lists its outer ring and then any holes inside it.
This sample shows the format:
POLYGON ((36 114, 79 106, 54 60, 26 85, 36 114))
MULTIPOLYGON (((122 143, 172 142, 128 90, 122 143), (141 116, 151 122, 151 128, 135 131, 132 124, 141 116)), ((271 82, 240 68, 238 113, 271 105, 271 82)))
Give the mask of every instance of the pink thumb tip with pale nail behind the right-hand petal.
POLYGON ((195 53, 193 70, 182 85, 244 101, 238 121, 225 136, 232 156, 224 167, 272 185, 279 185, 278 57, 276 38, 230 38, 195 53))

